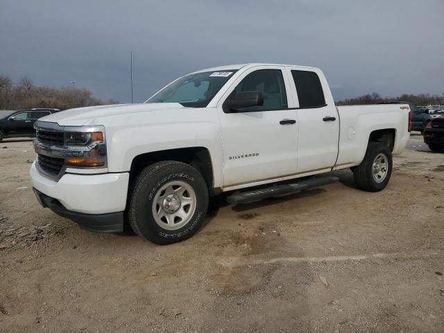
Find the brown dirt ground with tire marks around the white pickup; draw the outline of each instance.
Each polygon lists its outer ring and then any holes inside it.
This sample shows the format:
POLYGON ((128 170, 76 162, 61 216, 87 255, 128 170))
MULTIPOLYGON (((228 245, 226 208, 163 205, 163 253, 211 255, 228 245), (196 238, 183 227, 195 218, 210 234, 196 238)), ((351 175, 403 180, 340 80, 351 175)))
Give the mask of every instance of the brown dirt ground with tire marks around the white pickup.
POLYGON ((0 332, 444 332, 444 154, 420 135, 382 192, 336 172, 171 246, 41 208, 33 158, 0 143, 0 332))

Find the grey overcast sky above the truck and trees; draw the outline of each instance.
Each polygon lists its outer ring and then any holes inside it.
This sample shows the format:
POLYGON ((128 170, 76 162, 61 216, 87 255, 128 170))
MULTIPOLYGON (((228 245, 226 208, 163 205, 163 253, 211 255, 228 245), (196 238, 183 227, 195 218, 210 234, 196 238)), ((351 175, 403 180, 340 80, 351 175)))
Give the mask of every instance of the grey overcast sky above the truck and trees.
POLYGON ((191 71, 319 67, 334 99, 444 93, 444 0, 0 0, 0 75, 145 101, 191 71))

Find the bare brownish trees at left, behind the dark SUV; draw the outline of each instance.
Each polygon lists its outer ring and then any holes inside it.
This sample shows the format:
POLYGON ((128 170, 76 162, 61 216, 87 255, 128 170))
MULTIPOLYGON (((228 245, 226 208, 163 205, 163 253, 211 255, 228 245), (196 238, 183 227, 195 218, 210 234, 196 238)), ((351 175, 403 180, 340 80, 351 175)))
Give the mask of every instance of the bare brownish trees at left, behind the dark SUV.
POLYGON ((10 77, 0 75, 0 110, 26 110, 31 108, 57 108, 66 110, 83 106, 116 104, 117 101, 101 101, 88 89, 38 86, 28 77, 14 83, 10 77))

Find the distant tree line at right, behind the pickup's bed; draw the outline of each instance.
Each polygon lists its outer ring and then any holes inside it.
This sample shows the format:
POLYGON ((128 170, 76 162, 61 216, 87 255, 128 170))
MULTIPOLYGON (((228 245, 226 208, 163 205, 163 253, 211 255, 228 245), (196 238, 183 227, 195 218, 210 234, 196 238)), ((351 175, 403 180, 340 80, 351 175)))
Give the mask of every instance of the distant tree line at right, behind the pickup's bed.
POLYGON ((398 97, 382 97, 377 93, 366 94, 354 99, 343 99, 337 101, 337 105, 350 105, 350 104, 377 104, 384 102, 411 102, 415 105, 444 105, 444 93, 442 95, 430 95, 430 94, 402 94, 398 97))

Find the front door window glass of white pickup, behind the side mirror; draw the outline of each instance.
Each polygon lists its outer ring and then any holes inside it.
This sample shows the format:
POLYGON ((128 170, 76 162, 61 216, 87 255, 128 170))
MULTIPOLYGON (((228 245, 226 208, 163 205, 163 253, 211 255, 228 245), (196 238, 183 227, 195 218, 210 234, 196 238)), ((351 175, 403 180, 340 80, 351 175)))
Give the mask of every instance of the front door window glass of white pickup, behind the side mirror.
POLYGON ((239 92, 261 92, 264 96, 264 105, 250 106, 246 108, 249 112, 285 110, 288 108, 284 78, 280 69, 253 71, 234 88, 234 94, 239 92))

